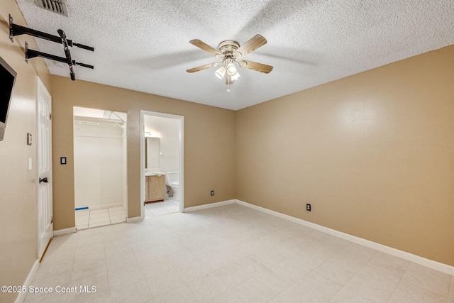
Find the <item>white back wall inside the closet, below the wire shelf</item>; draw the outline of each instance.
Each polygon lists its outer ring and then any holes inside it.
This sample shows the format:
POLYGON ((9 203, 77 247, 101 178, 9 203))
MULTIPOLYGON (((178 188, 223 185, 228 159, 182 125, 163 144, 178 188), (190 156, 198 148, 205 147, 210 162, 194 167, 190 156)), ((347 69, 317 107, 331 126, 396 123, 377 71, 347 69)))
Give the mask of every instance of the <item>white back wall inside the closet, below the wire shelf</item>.
POLYGON ((74 123, 74 206, 123 205, 123 128, 74 123))

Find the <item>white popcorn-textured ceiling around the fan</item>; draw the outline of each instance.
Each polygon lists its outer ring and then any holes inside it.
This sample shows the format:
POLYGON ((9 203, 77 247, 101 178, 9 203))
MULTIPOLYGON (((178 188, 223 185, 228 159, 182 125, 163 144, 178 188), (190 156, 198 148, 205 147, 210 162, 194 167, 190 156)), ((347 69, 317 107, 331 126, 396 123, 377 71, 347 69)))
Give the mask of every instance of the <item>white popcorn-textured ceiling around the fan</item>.
MULTIPOLYGON (((71 49, 94 65, 75 67, 76 79, 234 110, 454 44, 453 0, 66 0, 69 17, 17 2, 28 27, 94 47, 71 49), (258 33, 268 42, 245 60, 274 66, 270 74, 240 68, 227 87, 215 67, 186 72, 220 62, 189 40, 217 48, 258 33)), ((65 57, 62 45, 35 40, 65 57)), ((48 67, 69 77, 67 66, 48 67)))

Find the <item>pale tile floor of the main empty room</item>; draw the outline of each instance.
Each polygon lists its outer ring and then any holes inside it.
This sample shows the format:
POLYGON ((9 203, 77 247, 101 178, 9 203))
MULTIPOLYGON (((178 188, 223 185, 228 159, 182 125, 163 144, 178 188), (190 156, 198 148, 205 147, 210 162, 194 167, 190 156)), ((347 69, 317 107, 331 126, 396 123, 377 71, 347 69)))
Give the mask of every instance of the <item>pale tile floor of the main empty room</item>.
POLYGON ((454 302, 454 278, 238 204, 52 239, 26 302, 454 302))

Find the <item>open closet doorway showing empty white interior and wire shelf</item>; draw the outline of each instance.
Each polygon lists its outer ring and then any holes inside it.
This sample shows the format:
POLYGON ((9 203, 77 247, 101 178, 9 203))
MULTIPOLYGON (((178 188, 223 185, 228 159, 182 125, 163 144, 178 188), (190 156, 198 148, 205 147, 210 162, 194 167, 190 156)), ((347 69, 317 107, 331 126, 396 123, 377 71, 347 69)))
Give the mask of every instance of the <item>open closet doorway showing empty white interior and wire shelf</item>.
POLYGON ((126 113, 74 106, 76 228, 126 221, 126 113))

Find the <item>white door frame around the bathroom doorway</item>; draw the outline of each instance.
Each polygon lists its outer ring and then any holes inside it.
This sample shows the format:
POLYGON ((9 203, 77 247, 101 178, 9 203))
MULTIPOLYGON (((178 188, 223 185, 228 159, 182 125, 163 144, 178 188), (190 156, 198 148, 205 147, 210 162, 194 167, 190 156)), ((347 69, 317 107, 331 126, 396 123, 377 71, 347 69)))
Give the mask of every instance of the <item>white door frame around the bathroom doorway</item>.
POLYGON ((184 212, 184 116, 155 111, 140 111, 140 219, 145 218, 145 116, 157 116, 179 121, 179 211, 184 212))

